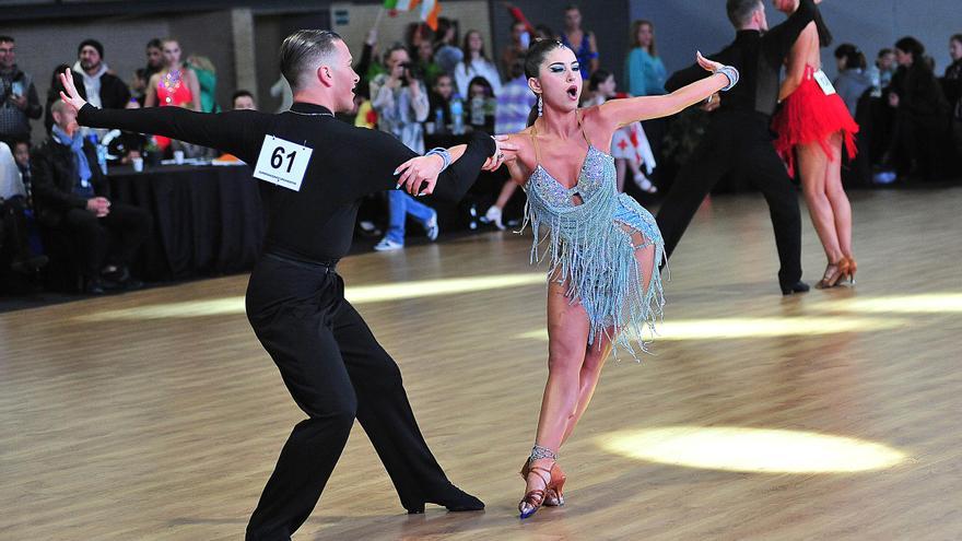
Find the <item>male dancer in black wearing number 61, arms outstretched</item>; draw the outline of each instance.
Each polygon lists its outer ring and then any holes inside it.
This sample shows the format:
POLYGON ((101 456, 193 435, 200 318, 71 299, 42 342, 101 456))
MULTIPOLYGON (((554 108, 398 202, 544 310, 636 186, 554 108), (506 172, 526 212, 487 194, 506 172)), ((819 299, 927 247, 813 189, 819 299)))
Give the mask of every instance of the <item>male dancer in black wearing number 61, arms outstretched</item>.
MULTIPOLYGON (((417 157, 389 134, 355 128, 333 113, 353 106, 359 77, 337 34, 298 31, 281 46, 281 71, 294 90, 291 110, 203 115, 177 107, 97 109, 61 77, 64 102, 94 128, 159 133, 221 149, 255 165, 268 213, 265 254, 247 286, 247 318, 308 419, 281 450, 247 526, 248 540, 290 539, 317 504, 356 417, 384 462, 401 504, 449 510, 484 504, 453 485, 421 435, 397 364, 344 299, 336 273, 348 252, 360 199, 394 189, 408 161, 409 189, 427 180, 459 199, 498 143, 477 133, 465 148, 417 157), (456 162, 441 174, 454 155, 456 162)), ((501 146, 508 149, 505 144, 501 146)), ((497 160, 492 163, 496 163, 497 160)), ((490 165, 490 164, 489 164, 490 165)), ((417 187, 415 187, 417 186, 417 187)))

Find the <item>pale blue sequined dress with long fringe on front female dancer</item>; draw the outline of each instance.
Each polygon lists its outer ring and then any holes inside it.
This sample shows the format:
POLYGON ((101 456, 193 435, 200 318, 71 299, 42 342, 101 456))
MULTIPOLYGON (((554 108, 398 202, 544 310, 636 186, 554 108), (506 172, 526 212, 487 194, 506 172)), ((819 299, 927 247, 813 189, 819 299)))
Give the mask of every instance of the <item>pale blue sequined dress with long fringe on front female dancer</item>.
MULTIPOLYGON (((665 306, 658 271, 665 243, 654 216, 618 192, 614 158, 596 149, 586 134, 585 141, 588 153, 574 187, 565 188, 540 163, 525 185, 525 225, 531 224, 535 237, 531 263, 547 259, 549 280, 566 283, 571 303, 584 306, 591 326, 588 344, 600 333, 609 339, 617 334, 615 356, 623 349, 638 360, 632 342, 647 352, 646 342, 665 306), (634 233, 643 235, 644 244, 632 243, 634 233), (645 287, 635 251, 650 245, 655 259, 645 287)), ((540 162, 537 142, 535 154, 540 162)))

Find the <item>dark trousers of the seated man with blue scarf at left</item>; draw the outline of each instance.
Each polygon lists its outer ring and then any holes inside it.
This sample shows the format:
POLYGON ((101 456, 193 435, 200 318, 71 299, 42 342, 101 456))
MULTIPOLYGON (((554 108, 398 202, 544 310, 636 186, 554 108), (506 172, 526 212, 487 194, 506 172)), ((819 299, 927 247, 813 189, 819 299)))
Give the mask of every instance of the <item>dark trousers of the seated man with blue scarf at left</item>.
POLYGON ((129 266, 150 235, 151 223, 146 210, 112 201, 106 216, 97 217, 86 209, 71 209, 63 215, 61 226, 70 230, 80 245, 83 275, 94 279, 108 262, 129 266))

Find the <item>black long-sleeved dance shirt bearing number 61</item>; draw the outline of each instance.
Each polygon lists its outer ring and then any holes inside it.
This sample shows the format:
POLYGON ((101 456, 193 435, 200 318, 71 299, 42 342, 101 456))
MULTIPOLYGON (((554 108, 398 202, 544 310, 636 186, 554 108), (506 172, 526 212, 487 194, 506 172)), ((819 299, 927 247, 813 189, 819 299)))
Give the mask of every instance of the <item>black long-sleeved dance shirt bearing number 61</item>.
MULTIPOLYGON (((395 189, 395 169, 415 157, 388 133, 356 128, 326 107, 295 103, 291 111, 232 110, 215 115, 180 107, 97 109, 87 104, 78 121, 92 128, 156 133, 221 149, 254 165, 268 136, 312 150, 300 190, 258 180, 267 210, 265 250, 308 261, 336 261, 351 247, 360 199, 395 189)), ((478 177, 494 141, 476 132, 465 154, 441 174, 434 195, 457 201, 478 177)), ((285 162, 286 163, 286 162, 285 162)))

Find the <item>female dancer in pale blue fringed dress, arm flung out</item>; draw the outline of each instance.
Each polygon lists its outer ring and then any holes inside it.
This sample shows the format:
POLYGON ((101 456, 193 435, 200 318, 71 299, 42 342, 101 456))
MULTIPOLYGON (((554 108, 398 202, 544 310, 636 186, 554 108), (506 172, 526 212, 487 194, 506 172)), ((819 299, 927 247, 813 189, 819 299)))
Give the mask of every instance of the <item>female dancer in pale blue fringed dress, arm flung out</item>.
POLYGON ((734 68, 701 54, 697 59, 715 74, 672 94, 578 109, 575 54, 553 40, 537 42, 528 51, 525 71, 538 96, 538 116, 508 139, 518 151, 505 163, 528 195, 532 261, 550 262, 549 375, 535 447, 521 470, 527 482, 521 518, 542 504, 564 503, 558 450, 588 407, 612 346, 636 355, 632 342, 644 344, 644 329, 664 304, 661 234, 648 211, 618 193, 614 160, 599 149, 610 148, 623 126, 673 115, 737 81, 734 68))

